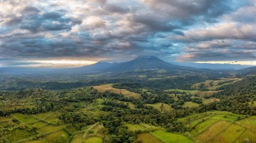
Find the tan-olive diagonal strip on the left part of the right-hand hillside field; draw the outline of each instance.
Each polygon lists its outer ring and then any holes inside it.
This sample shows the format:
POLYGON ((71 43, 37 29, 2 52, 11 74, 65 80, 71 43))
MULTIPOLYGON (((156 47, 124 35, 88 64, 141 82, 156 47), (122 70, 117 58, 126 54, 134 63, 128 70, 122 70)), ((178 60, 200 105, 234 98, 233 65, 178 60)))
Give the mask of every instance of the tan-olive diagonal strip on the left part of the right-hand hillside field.
POLYGON ((226 127, 228 127, 231 123, 226 121, 219 121, 216 124, 210 126, 207 130, 199 134, 196 138, 202 142, 206 142, 210 138, 213 138, 218 133, 223 131, 226 127))

